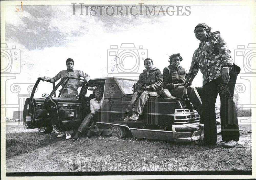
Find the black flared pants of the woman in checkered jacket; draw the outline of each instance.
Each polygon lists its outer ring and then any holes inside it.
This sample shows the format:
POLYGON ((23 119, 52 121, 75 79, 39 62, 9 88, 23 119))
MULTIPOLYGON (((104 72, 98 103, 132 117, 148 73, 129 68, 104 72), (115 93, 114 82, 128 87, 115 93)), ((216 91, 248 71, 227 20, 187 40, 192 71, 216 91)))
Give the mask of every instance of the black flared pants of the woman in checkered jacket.
MULTIPOLYGON (((238 67, 238 66, 237 66, 238 67)), ((238 67, 239 68, 239 67, 238 67)), ((220 121, 221 137, 223 141, 239 141, 239 126, 237 120, 236 104, 233 101, 234 87, 237 74, 234 66, 229 72, 230 81, 224 83, 222 77, 207 81, 202 89, 202 107, 205 117, 204 140, 208 143, 217 142, 217 127, 215 102, 217 95, 220 95, 220 121)))

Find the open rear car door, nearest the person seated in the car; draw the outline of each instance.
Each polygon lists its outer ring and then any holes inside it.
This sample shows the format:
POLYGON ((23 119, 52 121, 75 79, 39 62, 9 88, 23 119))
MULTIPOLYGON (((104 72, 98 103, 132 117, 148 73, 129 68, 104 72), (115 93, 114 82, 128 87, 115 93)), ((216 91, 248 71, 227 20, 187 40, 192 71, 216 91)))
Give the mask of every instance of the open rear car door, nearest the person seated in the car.
POLYGON ((70 83, 69 81, 80 81, 82 84, 81 92, 86 83, 85 79, 76 77, 63 77, 61 81, 53 89, 49 97, 45 100, 45 107, 50 114, 52 125, 57 131, 68 131, 77 128, 82 122, 82 98, 76 96, 76 98, 60 97, 65 85, 70 83), (62 85, 62 86, 60 86, 62 85), (59 88, 60 87, 60 88, 59 88), (62 87, 62 88, 61 88, 62 87), (60 89, 58 97, 54 97, 54 93, 60 89))

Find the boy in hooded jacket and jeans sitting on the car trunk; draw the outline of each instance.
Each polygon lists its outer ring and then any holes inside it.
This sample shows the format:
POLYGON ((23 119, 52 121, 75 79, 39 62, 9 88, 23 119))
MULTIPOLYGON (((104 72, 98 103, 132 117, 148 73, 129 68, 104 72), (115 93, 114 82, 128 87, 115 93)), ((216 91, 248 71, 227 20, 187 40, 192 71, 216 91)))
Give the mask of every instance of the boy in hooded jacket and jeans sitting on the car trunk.
POLYGON ((163 76, 161 71, 154 67, 153 60, 147 58, 144 60, 145 70, 140 74, 139 80, 135 85, 136 90, 133 97, 125 110, 127 113, 124 121, 137 121, 142 114, 143 107, 149 96, 156 96, 157 93, 163 92, 163 76))

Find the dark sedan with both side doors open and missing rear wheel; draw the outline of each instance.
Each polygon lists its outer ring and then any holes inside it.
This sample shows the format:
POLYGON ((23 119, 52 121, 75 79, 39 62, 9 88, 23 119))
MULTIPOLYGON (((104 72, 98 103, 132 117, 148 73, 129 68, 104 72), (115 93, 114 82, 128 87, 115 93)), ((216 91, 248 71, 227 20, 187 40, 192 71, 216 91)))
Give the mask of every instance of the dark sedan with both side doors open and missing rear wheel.
MULTIPOLYGON (((75 130, 83 118, 90 113, 90 100, 94 98, 93 89, 99 88, 104 94, 101 108, 95 116, 96 124, 103 135, 123 138, 127 134, 133 137, 159 139, 170 141, 190 142, 202 138, 203 125, 199 123, 200 116, 187 99, 180 101, 176 97, 149 97, 142 115, 136 122, 124 122, 125 109, 129 104, 136 80, 117 77, 91 79, 83 83, 84 79, 64 77, 52 92, 42 94, 43 98, 34 98, 34 93, 40 81, 38 78, 30 98, 24 105, 24 127, 38 128, 41 133, 75 130), (80 81, 80 93, 77 99, 58 97, 56 92, 60 85, 70 79, 80 81)), ((216 118, 220 121, 220 110, 216 106, 216 118)), ((220 127, 217 128, 220 132, 220 127)))

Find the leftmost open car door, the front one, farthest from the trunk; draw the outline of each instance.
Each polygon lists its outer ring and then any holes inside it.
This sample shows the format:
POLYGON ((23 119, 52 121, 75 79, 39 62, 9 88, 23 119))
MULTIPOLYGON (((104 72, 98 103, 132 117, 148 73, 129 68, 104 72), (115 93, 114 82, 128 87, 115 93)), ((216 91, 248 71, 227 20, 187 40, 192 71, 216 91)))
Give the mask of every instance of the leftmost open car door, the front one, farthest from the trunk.
POLYGON ((49 88, 51 88, 51 86, 54 88, 55 83, 41 83, 40 90, 38 90, 38 84, 40 81, 44 81, 44 78, 39 77, 37 79, 31 92, 30 98, 27 98, 25 101, 23 109, 23 124, 26 129, 34 129, 52 125, 50 115, 44 107, 45 98, 35 98, 34 95, 35 92, 45 92, 47 90, 50 91, 49 88))

